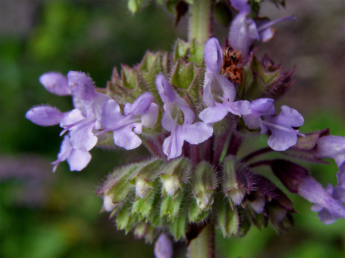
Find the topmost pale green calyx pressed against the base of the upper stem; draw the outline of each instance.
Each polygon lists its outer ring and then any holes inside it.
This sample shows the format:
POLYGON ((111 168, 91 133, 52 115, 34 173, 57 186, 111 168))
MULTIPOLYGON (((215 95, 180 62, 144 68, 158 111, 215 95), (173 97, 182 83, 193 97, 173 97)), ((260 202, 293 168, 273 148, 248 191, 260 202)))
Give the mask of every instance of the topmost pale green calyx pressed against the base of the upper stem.
POLYGON ((196 39, 188 42, 177 39, 172 56, 175 62, 179 57, 183 57, 187 62, 193 62, 199 67, 204 61, 204 45, 196 39))

